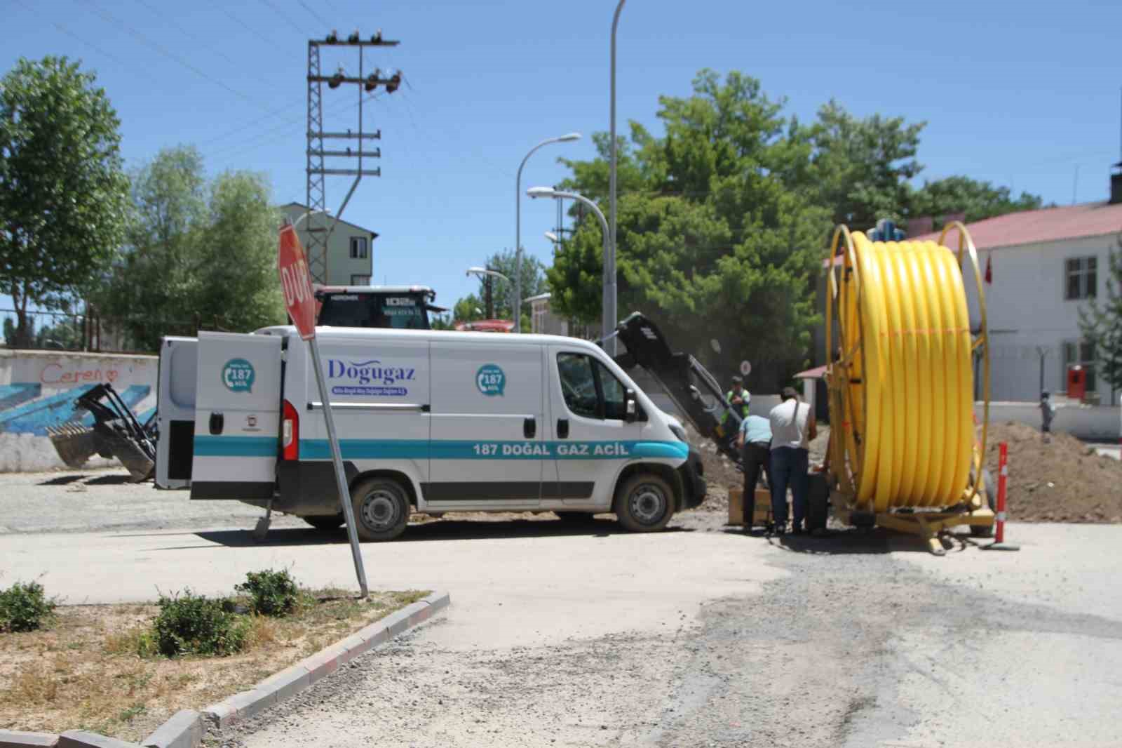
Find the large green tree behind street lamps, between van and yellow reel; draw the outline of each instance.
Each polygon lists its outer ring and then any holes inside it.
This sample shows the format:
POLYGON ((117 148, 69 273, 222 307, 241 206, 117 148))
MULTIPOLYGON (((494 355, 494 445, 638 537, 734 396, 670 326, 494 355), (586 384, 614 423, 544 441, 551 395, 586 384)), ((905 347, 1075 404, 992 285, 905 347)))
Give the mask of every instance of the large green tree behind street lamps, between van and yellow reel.
MULTIPOLYGON (((671 345, 721 376, 748 358, 754 385, 767 389, 806 363, 829 230, 829 211, 808 199, 810 136, 781 109, 752 77, 734 72, 721 81, 702 71, 693 95, 660 98, 663 137, 632 127, 620 163, 638 186, 618 203, 620 317, 643 311, 671 345), (724 356, 697 345, 700 329, 721 341, 724 356)), ((608 140, 596 142, 605 161, 608 140)), ((601 170, 571 165, 565 186, 597 194, 601 170), (586 186, 582 175, 597 181, 586 186)), ((598 222, 578 225, 546 275, 554 311, 599 319, 598 222)))

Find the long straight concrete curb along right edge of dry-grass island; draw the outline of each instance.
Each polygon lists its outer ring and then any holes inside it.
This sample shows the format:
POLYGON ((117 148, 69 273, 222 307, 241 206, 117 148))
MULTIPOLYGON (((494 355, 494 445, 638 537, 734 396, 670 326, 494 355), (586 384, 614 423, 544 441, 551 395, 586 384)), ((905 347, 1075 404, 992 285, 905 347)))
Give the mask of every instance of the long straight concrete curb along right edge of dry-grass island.
MULTIPOLYGON (((359 655, 366 654, 398 633, 423 623, 432 618, 433 613, 438 610, 447 608, 450 602, 451 596, 447 592, 433 592, 422 600, 370 623, 346 639, 337 641, 316 654, 305 657, 295 665, 265 678, 251 690, 236 693, 224 701, 206 706, 202 710, 201 718, 210 726, 220 730, 234 722, 249 719, 263 709, 307 688, 320 678, 330 675, 359 655)), ((188 731, 196 729, 196 722, 188 722, 184 719, 182 726, 171 727, 172 722, 182 713, 177 713, 160 726, 156 732, 153 732, 144 741, 144 745, 153 746, 154 748, 173 748, 173 746, 174 748, 195 748, 202 740, 201 727, 199 728, 197 738, 193 737, 194 732, 191 733, 192 737, 190 738, 185 736, 188 731), (165 732, 164 728, 169 729, 165 732), (180 730, 177 737, 172 736, 174 730, 180 730), (160 736, 160 733, 164 735, 160 736), (164 737, 168 742, 156 744, 154 739, 157 736, 164 737)), ((201 726, 201 723, 199 724, 201 726)), ((63 747, 59 746, 59 748, 63 747)), ((105 748, 111 747, 105 746, 105 748)))

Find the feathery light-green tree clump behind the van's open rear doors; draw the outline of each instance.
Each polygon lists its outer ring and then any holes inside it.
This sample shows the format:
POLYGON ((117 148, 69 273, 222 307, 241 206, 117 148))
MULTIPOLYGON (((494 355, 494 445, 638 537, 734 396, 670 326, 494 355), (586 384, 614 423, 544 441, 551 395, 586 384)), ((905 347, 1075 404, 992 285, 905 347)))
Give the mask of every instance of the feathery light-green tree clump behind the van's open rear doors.
POLYGON ((132 345, 164 335, 251 330, 284 321, 276 279, 279 216, 264 175, 226 172, 208 183, 190 146, 162 150, 132 177, 128 244, 91 300, 132 345))

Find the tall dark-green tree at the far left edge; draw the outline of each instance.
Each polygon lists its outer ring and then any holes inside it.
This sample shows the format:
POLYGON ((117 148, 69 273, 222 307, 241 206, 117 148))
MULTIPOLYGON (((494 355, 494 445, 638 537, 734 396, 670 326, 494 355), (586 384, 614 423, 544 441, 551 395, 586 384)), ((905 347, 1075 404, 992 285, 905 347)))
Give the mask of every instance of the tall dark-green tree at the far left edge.
POLYGON ((80 293, 125 238, 120 121, 93 73, 20 58, 0 81, 0 288, 30 343, 28 304, 80 293))

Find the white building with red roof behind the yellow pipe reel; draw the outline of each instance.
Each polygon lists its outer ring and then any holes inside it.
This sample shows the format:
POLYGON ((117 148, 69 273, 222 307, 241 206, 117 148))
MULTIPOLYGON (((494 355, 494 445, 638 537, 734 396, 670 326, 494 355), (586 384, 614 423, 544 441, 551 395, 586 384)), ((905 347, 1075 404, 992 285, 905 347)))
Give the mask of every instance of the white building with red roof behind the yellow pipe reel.
MULTIPOLYGON (((1079 332, 1079 309, 1106 299, 1109 256, 1122 238, 1122 189, 1111 202, 1045 208, 967 226, 978 250, 990 329, 991 398, 1034 401, 1041 390, 1065 392, 1068 367, 1087 371, 1087 393, 1118 401, 1096 371, 1093 346, 1079 332)), ((939 234, 908 237, 938 241, 939 234)), ((957 232, 947 245, 957 247, 957 232)), ((978 325, 977 290, 963 268, 972 327, 978 325)), ((1094 400, 1092 396, 1091 400, 1094 400)))

